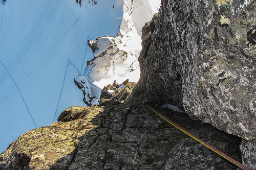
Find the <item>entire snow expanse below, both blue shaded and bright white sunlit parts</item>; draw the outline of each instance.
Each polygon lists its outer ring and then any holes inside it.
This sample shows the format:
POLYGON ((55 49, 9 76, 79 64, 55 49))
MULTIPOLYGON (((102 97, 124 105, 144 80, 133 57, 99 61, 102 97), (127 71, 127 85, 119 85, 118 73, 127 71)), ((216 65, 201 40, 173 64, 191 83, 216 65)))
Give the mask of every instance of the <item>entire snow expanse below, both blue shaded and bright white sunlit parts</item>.
POLYGON ((96 96, 92 104, 114 80, 138 81, 141 28, 158 12, 160 0, 97 2, 0 3, 0 153, 20 134, 56 122, 62 110, 85 106, 74 83, 78 75, 83 76, 76 81, 96 96), (102 39, 93 54, 87 42, 100 36, 116 37, 102 39), (111 41, 116 46, 106 49, 111 41))

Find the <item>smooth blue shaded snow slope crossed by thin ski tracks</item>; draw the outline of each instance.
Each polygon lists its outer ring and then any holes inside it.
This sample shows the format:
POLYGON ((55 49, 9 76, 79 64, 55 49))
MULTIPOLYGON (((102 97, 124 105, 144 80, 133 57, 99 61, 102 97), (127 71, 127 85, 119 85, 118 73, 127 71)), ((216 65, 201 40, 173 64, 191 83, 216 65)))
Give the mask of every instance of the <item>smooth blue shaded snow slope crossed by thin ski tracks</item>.
POLYGON ((0 153, 63 109, 85 106, 73 80, 93 58, 87 41, 115 36, 123 15, 123 1, 97 2, 1 1, 0 153))

